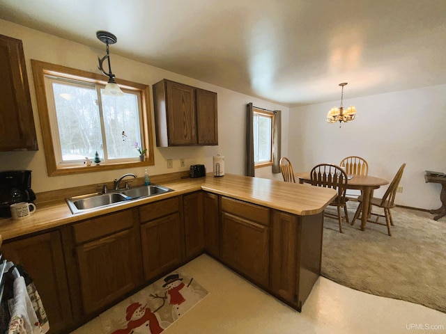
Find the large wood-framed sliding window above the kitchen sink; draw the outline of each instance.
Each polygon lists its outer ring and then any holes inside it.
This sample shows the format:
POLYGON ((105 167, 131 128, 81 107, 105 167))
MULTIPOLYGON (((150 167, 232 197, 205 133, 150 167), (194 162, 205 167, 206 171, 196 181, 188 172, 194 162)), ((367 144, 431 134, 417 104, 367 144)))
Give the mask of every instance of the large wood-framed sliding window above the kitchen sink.
POLYGON ((118 81, 125 95, 107 96, 101 74, 32 63, 50 176, 153 165, 148 86, 118 81))

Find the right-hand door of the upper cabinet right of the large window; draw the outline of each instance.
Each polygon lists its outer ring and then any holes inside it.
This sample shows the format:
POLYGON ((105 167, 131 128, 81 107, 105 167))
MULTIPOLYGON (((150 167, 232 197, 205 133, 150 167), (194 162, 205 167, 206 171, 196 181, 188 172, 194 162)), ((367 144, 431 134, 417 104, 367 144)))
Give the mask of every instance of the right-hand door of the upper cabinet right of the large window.
POLYGON ((217 93, 197 88, 198 145, 218 145, 217 93))

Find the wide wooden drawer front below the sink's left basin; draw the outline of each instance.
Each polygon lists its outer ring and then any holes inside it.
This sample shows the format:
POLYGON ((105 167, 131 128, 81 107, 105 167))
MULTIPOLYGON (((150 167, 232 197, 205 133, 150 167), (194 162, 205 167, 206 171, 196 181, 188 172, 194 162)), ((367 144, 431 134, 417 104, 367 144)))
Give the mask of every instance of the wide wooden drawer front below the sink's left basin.
POLYGON ((89 219, 72 226, 76 244, 98 239, 99 237, 132 228, 132 210, 124 210, 113 214, 107 214, 98 218, 89 219))

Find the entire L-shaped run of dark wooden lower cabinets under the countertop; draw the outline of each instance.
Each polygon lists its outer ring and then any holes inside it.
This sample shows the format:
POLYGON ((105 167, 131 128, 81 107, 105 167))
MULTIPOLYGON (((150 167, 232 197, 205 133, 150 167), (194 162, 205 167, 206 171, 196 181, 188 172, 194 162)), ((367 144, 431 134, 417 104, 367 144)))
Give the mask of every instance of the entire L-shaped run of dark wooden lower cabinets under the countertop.
POLYGON ((197 191, 5 241, 43 299, 51 333, 98 315, 206 250, 293 308, 321 273, 323 212, 297 216, 197 191))

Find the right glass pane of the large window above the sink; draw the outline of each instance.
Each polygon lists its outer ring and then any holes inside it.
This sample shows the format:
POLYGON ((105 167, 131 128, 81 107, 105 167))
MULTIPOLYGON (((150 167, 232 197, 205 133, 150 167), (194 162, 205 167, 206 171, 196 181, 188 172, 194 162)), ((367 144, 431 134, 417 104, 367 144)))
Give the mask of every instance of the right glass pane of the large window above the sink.
POLYGON ((138 105, 138 97, 134 94, 125 93, 118 97, 102 95, 108 159, 139 156, 134 148, 134 143, 141 148, 138 105))

